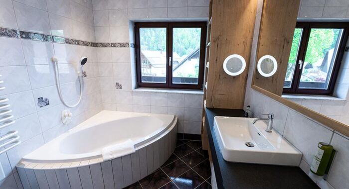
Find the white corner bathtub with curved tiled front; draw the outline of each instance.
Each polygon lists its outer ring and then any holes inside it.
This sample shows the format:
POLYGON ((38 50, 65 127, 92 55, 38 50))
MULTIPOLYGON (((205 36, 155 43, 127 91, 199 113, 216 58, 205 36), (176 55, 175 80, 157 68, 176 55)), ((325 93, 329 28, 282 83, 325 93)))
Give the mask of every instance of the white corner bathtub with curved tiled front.
POLYGON ((16 166, 18 174, 28 189, 123 188, 148 176, 171 156, 176 123, 174 115, 104 110, 25 155, 16 166), (136 153, 103 161, 104 147, 128 139, 136 153))

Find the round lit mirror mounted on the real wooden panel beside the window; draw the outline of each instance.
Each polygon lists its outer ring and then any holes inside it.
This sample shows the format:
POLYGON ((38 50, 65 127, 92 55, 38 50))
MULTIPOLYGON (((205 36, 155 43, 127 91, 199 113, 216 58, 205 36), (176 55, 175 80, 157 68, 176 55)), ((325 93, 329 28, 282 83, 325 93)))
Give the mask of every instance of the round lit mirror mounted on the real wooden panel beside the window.
POLYGON ((237 54, 228 56, 223 62, 224 72, 229 76, 238 76, 246 68, 245 59, 237 54))

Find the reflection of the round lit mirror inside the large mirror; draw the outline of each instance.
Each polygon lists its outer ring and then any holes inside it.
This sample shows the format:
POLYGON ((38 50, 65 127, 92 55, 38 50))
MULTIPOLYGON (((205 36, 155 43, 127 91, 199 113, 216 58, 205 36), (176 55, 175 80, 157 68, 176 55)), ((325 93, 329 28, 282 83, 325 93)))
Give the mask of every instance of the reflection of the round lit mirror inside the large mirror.
POLYGON ((262 56, 257 63, 257 70, 264 77, 273 76, 278 69, 276 59, 270 55, 262 56))

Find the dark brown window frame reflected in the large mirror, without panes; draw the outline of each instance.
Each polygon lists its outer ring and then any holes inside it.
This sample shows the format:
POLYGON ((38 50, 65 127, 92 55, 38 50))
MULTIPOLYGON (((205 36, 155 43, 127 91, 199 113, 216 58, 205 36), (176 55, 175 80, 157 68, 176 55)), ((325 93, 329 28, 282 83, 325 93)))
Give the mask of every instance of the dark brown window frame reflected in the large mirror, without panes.
MULTIPOLYGON (((298 54, 296 57, 296 66, 295 71, 293 73, 293 78, 291 81, 291 88, 284 88, 283 93, 285 94, 302 94, 302 95, 333 95, 337 76, 341 67, 341 62, 343 59, 343 55, 345 52, 346 44, 348 41, 349 35, 349 22, 297 22, 296 28, 302 28, 302 35, 300 46, 298 50, 298 54), (308 42, 310 38, 310 31, 312 28, 343 28, 343 36, 338 46, 338 52, 336 55, 336 59, 334 61, 334 66, 332 70, 332 74, 329 81, 328 89, 298 89, 301 80, 301 74, 303 71, 299 69, 299 60, 305 59, 306 51, 308 48, 308 42)), ((288 62, 287 62, 288 64, 288 62)))

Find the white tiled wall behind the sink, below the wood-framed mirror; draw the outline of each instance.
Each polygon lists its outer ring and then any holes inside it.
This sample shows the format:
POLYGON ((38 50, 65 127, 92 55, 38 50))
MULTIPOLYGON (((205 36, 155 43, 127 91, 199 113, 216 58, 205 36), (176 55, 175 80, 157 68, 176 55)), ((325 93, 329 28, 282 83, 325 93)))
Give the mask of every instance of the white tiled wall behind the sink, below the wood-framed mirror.
MULTIPOLYGON (((261 4, 261 1, 263 0, 259 0, 259 4, 261 4)), ((334 131, 326 125, 322 125, 315 120, 300 114, 296 110, 251 89, 251 81, 256 64, 255 56, 260 16, 261 8, 258 7, 255 24, 256 32, 253 37, 251 62, 248 75, 249 77, 245 96, 245 106, 251 105, 251 109, 255 117, 261 117, 261 113, 275 114, 273 126, 274 129, 282 134, 286 140, 292 143, 303 153, 302 161, 299 167, 306 174, 308 174, 309 177, 316 182, 320 188, 348 189, 349 175, 347 174, 347 170, 349 170, 349 138, 337 131, 334 131), (338 151, 327 181, 310 173, 312 157, 315 154, 315 150, 319 142, 330 143, 338 151)))

